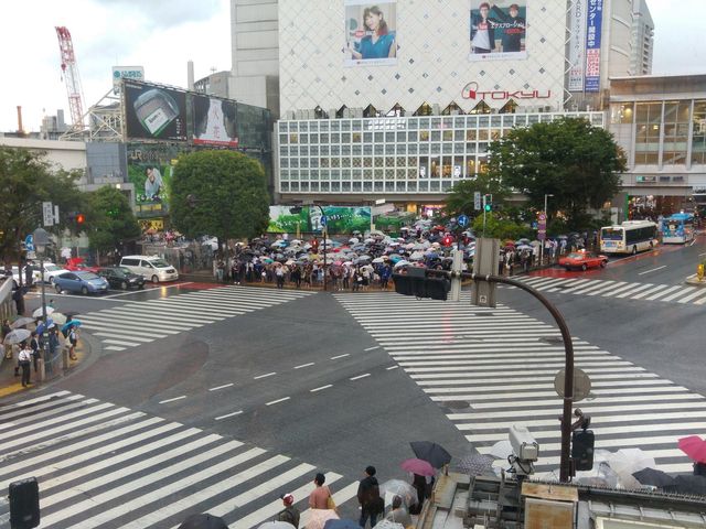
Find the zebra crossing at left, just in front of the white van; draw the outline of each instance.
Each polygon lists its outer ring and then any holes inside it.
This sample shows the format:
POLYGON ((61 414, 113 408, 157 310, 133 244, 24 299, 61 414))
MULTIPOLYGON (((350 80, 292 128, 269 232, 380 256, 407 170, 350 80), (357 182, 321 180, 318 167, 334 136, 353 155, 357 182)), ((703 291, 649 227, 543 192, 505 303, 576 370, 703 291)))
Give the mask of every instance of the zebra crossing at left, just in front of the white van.
POLYGON ((220 287, 185 294, 120 303, 81 314, 82 328, 105 350, 125 350, 248 312, 311 295, 300 290, 220 287))

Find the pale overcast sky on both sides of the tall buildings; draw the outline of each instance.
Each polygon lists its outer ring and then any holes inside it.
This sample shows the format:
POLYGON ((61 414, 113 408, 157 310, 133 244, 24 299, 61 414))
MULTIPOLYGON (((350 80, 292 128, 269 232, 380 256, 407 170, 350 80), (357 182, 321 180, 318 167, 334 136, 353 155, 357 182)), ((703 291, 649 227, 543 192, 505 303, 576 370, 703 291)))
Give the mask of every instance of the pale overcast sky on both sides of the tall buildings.
MULTIPOLYGON (((288 1, 288 0, 280 0, 288 1)), ((293 0, 289 0, 293 1, 293 0)), ((342 0, 329 0, 342 1, 342 0)), ((559 0, 530 0, 559 1, 559 0)), ((228 0, 9 0, 0 18, 0 130, 39 130, 44 114, 65 110, 55 25, 73 35, 85 106, 111 88, 114 65, 141 65, 148 80, 186 86, 186 61, 196 79, 231 68, 228 0)), ((648 0, 656 26, 654 74, 706 73, 706 0, 648 0)))

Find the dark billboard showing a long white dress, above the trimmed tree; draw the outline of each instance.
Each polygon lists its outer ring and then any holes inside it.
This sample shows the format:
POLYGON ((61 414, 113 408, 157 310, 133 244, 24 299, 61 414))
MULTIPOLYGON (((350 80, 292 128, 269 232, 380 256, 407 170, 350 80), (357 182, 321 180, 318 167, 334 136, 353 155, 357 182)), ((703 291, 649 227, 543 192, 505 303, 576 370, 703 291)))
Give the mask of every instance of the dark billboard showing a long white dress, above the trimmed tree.
POLYGON ((194 95, 193 142, 200 145, 238 147, 235 101, 194 95))

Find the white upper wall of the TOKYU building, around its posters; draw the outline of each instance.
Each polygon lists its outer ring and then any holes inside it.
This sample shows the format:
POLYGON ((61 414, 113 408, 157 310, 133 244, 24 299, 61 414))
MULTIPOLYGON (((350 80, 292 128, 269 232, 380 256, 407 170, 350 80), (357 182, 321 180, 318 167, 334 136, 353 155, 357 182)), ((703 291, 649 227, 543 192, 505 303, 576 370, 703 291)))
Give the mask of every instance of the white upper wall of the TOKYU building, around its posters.
MULTIPOLYGON (((510 1, 495 2, 505 9, 510 1)), ((456 101, 464 111, 479 102, 464 99, 468 83, 477 91, 550 93, 546 99, 520 99, 523 106, 561 108, 566 42, 566 2, 527 1, 526 58, 469 61, 468 0, 398 0, 397 61, 394 65, 344 66, 343 0, 299 0, 279 6, 281 114, 365 108, 388 111, 399 102, 414 112, 425 101, 441 109, 456 101)), ((478 2, 475 2, 478 4, 478 2)), ((500 108, 506 99, 491 100, 500 108)))

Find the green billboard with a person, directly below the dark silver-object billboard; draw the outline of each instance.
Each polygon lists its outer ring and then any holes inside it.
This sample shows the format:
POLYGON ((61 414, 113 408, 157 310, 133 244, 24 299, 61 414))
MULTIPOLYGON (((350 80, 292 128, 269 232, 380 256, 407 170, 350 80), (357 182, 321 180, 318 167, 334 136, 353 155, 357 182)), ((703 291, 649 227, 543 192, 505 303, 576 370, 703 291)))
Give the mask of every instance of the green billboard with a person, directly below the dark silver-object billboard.
POLYGON ((169 214, 169 192, 176 159, 184 149, 158 143, 128 143, 128 181, 135 185, 138 218, 169 214))

